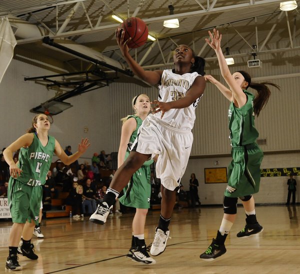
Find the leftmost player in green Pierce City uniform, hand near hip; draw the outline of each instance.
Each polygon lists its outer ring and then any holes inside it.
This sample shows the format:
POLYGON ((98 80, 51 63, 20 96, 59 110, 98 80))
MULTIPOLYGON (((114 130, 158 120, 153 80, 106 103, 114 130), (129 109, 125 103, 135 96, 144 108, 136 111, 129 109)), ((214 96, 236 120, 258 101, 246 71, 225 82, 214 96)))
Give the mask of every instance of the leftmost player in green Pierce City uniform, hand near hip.
POLYGON ((45 183, 53 153, 68 165, 78 159, 90 145, 86 138, 82 139, 78 144, 78 151, 67 156, 58 141, 48 135, 49 128, 48 117, 45 114, 37 114, 32 119, 32 127, 27 130, 28 133, 20 136, 3 151, 10 172, 7 196, 13 222, 8 239, 8 270, 21 269, 17 252, 30 259, 37 259, 30 239, 34 226, 38 223, 42 199, 41 185, 45 183), (20 149, 20 153, 16 164, 12 152, 17 149, 20 149), (21 233, 23 242, 17 251, 21 233))

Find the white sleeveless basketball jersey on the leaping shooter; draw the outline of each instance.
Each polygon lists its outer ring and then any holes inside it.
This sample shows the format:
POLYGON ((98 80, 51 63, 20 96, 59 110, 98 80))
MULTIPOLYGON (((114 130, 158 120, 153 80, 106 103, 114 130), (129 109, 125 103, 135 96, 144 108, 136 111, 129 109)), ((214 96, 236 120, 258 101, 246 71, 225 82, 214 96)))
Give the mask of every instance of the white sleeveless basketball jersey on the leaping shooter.
MULTIPOLYGON (((184 97, 197 76, 199 76, 197 72, 180 75, 173 73, 171 69, 163 70, 161 84, 158 86, 158 101, 169 102, 184 97)), ((200 97, 185 108, 171 108, 164 113, 162 121, 179 129, 191 130, 195 120, 195 108, 199 99, 200 97)), ((154 115, 156 119, 160 119, 161 112, 154 115)))

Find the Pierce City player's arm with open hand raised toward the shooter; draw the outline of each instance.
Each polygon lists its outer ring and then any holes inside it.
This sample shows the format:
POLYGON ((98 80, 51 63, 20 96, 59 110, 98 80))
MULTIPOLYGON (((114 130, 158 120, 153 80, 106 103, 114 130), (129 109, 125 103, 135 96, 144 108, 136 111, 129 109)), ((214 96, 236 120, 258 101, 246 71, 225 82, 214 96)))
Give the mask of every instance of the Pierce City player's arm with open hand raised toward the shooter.
POLYGON ((54 153, 57 155, 57 157, 59 159, 61 159, 61 161, 64 164, 69 165, 72 162, 74 162, 75 160, 77 160, 86 151, 86 149, 89 145, 90 145, 90 143, 89 143, 88 139, 87 138, 85 138, 85 139, 82 138, 81 142, 78 143, 78 151, 76 151, 72 155, 68 156, 63 151, 63 149, 62 149, 61 145, 59 144, 59 142, 55 139, 54 153))

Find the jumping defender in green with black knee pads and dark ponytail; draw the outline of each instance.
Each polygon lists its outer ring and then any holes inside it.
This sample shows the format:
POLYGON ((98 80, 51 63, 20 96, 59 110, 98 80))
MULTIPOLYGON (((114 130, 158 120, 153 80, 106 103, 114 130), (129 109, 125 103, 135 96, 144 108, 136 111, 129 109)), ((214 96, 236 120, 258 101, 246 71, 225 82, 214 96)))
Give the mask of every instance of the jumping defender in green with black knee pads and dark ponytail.
POLYGON ((226 64, 220 41, 222 35, 213 29, 213 34, 208 31, 211 41, 206 42, 214 49, 221 74, 229 85, 228 89, 211 75, 205 75, 231 102, 228 109, 229 130, 231 140, 232 161, 228 166, 228 185, 224 192, 223 219, 215 239, 205 252, 200 255, 201 259, 213 260, 224 254, 226 236, 235 220, 237 199, 240 198, 246 213, 246 224, 237 233, 237 237, 247 237, 263 230, 257 222, 255 215, 254 199, 252 194, 259 190, 260 163, 263 153, 256 143, 258 131, 254 127, 254 115, 259 115, 260 110, 266 104, 270 90, 265 84, 278 88, 273 83, 252 83, 250 75, 245 71, 236 71, 232 75, 226 64), (246 89, 251 87, 257 91, 254 96, 246 89))

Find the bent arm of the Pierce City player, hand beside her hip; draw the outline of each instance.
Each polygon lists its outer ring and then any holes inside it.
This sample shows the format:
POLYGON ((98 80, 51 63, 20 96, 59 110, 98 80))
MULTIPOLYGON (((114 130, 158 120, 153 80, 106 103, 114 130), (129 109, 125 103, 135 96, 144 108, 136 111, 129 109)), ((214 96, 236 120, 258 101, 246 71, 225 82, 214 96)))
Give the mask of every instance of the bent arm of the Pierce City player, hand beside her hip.
POLYGON ((16 177, 19 176, 22 172, 21 169, 19 169, 13 161, 12 152, 20 149, 21 147, 27 147, 29 146, 33 141, 33 134, 32 133, 26 133, 22 136, 20 136, 17 140, 15 140, 13 143, 8 145, 4 151, 3 156, 7 164, 9 165, 9 173, 10 176, 16 177))

